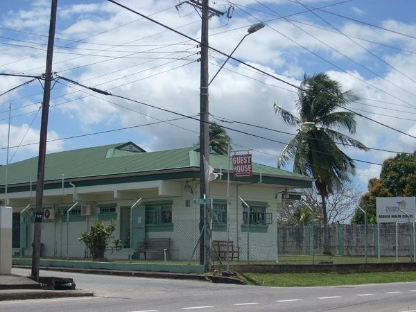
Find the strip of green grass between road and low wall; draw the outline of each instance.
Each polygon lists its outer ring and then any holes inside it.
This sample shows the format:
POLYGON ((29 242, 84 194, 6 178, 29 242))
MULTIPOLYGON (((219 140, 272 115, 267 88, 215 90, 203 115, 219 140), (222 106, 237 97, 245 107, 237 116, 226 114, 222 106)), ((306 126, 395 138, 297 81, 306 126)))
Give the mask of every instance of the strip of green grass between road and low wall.
POLYGON ((337 286, 381 284, 400 281, 416 281, 416 272, 370 273, 239 273, 238 277, 249 285, 258 286, 337 286))

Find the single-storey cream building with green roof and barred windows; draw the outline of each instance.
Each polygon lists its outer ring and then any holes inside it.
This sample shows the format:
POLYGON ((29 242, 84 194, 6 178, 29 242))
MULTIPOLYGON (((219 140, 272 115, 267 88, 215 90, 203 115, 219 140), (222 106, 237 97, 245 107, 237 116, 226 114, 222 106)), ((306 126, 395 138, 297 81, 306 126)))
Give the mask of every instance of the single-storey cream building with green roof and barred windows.
MULTIPOLYGON (((114 236, 128 247, 130 207, 141 198, 132 209, 134 248, 145 238, 169 238, 171 259, 190 259, 193 250, 198 259, 200 206, 193 202, 200 198, 198 148, 146 152, 125 142, 46 155, 42 257, 67 257, 67 250, 71 258, 88 257, 78 237, 98 220, 116 220, 114 236)), ((253 163, 252 177, 230 174, 227 205, 229 159, 210 153, 209 164, 223 173, 210 183, 212 239, 233 241, 244 258, 250 234, 250 259, 276 259, 282 198, 296 199, 291 190, 309 188, 313 180, 253 163), (239 198, 250 206, 249 222, 239 198)), ((32 254, 36 177, 37 157, 9 164, 6 193, 6 166, 0 167, 0 206, 13 209, 13 248, 23 256, 32 254)))

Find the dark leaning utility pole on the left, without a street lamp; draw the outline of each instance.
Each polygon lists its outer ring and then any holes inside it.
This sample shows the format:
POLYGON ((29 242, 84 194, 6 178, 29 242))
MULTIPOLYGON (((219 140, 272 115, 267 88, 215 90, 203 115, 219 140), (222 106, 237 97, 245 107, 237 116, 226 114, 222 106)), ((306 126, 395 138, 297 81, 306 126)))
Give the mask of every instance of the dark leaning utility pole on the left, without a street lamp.
POLYGON ((36 207, 35 207, 35 226, 33 229, 33 254, 32 254, 32 277, 39 281, 40 265, 40 237, 41 224, 43 216, 43 191, 45 176, 45 157, 46 157, 46 138, 48 134, 48 114, 49 100, 51 98, 51 80, 52 80, 52 58, 53 58, 53 40, 55 38, 56 10, 58 0, 52 0, 51 21, 49 23, 48 49, 46 52, 46 71, 44 83, 44 96, 42 101, 42 123, 40 126, 39 139, 39 157, 37 161, 37 183, 36 183, 36 207))

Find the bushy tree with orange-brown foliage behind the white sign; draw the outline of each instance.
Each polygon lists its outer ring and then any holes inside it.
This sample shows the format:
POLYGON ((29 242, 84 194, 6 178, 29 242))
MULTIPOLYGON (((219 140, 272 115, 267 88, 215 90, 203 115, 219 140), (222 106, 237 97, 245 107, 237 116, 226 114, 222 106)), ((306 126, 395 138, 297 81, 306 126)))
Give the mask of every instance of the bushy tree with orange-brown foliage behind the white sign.
MULTIPOLYGON (((368 181, 368 191, 361 197, 360 207, 367 211, 369 223, 376 223, 377 220, 376 198, 392 196, 416 196, 416 152, 385 159, 380 178, 368 181)), ((356 209, 351 222, 364 223, 364 214, 360 209, 356 209)))

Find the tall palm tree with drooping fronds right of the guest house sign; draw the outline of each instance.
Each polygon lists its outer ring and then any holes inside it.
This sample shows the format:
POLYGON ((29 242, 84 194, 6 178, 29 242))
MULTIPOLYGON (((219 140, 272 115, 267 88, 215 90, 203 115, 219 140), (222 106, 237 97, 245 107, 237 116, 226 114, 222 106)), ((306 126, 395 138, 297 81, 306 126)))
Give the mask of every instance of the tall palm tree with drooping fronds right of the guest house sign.
POLYGON ((324 223, 324 253, 330 253, 326 199, 333 189, 349 180, 355 173, 354 161, 338 144, 353 146, 360 150, 368 148, 360 141, 348 137, 335 129, 356 132, 355 114, 339 111, 339 108, 358 101, 352 91, 342 91, 338 81, 326 73, 304 75, 300 85, 296 110, 300 116, 284 110, 275 103, 274 109, 288 125, 298 127, 297 135, 288 142, 278 159, 279 166, 293 160, 293 171, 314 177, 315 186, 322 200, 322 222, 324 223))

